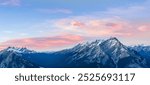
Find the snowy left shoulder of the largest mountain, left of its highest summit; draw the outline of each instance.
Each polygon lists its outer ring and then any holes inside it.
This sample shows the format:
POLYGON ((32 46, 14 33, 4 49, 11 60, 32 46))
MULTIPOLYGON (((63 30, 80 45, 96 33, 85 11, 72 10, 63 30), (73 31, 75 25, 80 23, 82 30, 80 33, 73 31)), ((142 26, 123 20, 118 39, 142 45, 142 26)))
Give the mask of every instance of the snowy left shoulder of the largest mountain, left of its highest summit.
POLYGON ((73 65, 73 67, 93 67, 93 65, 99 65, 101 62, 105 64, 107 60, 109 60, 109 57, 107 55, 105 56, 105 53, 102 51, 102 49, 100 49, 99 46, 101 43, 101 41, 96 40, 92 43, 86 43, 82 45, 79 44, 75 46, 74 48, 70 49, 72 55, 68 57, 66 62, 68 65, 73 65), (90 63, 91 65, 87 66, 87 64, 90 63))

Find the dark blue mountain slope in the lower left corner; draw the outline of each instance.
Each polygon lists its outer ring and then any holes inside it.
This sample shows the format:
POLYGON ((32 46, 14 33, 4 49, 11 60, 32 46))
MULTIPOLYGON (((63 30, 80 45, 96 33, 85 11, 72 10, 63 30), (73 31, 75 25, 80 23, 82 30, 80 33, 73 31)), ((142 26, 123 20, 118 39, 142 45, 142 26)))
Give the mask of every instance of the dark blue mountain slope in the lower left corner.
POLYGON ((24 59, 22 54, 13 51, 1 51, 0 68, 38 68, 39 66, 24 59))

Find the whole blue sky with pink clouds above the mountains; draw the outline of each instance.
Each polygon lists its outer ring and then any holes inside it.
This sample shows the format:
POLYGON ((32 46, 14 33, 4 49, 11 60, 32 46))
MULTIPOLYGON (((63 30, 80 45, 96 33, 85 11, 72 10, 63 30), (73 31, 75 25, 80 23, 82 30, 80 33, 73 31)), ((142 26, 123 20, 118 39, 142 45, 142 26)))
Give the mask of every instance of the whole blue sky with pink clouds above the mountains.
POLYGON ((0 0, 0 50, 52 51, 109 37, 150 45, 150 0, 0 0))

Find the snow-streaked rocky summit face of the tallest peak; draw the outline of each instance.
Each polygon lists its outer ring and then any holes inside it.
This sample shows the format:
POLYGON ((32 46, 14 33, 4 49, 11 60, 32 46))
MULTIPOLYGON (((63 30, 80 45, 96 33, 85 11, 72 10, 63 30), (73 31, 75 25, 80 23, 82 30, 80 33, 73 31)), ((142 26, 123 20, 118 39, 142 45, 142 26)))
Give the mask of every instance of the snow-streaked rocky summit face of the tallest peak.
POLYGON ((104 41, 100 48, 111 57, 115 64, 118 63, 119 59, 129 57, 129 50, 124 46, 117 38, 110 38, 104 41))

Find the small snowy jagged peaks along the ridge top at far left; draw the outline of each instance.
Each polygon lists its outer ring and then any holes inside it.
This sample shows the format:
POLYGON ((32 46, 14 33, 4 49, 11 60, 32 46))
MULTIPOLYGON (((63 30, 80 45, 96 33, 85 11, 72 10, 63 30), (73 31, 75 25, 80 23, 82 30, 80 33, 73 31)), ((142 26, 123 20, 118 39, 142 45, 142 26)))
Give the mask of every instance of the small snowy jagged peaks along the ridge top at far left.
POLYGON ((13 51, 13 52, 17 52, 17 53, 34 53, 35 51, 33 50, 29 50, 27 48, 17 48, 17 47, 8 47, 6 49, 4 49, 5 51, 13 51))

